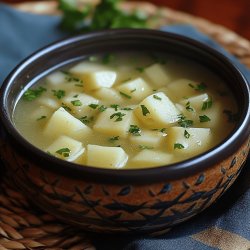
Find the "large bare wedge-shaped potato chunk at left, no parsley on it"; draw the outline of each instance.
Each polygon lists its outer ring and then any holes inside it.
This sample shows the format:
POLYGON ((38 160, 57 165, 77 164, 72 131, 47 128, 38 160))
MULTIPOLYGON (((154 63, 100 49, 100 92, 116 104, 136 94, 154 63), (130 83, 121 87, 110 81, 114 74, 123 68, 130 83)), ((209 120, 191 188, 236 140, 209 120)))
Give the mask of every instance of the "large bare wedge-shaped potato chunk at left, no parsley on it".
POLYGON ((44 135, 51 138, 67 135, 74 139, 82 139, 90 133, 91 129, 88 126, 62 107, 53 113, 44 129, 44 135))

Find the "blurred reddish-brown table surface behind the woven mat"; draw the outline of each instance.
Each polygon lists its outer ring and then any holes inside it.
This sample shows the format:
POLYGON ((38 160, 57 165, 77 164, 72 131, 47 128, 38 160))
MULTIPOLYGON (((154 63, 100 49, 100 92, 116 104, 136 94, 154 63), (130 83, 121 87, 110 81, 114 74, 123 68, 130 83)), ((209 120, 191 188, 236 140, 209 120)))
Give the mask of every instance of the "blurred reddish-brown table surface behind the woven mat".
MULTIPOLYGON (((143 2, 143 0, 134 1, 143 2)), ((24 0, 2 0, 2 2, 20 3, 24 0)), ((147 2, 203 17, 250 40, 249 0, 147 0, 147 2)))

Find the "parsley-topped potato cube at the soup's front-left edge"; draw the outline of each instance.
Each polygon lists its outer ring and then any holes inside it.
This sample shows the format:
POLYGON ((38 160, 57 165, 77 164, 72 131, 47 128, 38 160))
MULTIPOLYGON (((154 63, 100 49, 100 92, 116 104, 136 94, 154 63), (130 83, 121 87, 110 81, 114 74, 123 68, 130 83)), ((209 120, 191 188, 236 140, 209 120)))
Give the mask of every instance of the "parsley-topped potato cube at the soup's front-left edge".
POLYGON ((46 148, 45 151, 66 161, 76 161, 83 155, 85 148, 81 142, 62 135, 46 148))

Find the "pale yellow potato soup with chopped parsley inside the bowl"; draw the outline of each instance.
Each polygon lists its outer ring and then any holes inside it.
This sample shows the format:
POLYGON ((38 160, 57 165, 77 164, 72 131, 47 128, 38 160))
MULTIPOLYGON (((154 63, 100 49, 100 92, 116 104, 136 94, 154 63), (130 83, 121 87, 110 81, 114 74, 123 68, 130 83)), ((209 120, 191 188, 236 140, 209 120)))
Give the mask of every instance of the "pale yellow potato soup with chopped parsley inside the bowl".
POLYGON ((14 122, 33 145, 101 168, 168 165, 201 154, 234 128, 223 80, 173 55, 115 53, 54 71, 27 89, 14 122))

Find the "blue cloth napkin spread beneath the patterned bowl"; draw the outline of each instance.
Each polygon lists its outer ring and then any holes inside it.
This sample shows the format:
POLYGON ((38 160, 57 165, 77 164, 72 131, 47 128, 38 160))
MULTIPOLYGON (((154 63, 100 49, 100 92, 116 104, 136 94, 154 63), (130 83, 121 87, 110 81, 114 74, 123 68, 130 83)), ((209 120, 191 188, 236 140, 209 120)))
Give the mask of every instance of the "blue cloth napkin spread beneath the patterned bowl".
MULTIPOLYGON (((58 28, 60 18, 16 11, 0 4, 0 84, 22 59, 35 50, 66 37, 58 28)), ((226 55, 250 81, 250 70, 211 38, 187 25, 162 27, 199 40, 226 55)), ((97 249, 107 250, 249 250, 250 160, 230 190, 212 207, 157 238, 91 235, 97 249)))

